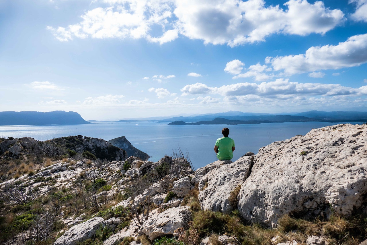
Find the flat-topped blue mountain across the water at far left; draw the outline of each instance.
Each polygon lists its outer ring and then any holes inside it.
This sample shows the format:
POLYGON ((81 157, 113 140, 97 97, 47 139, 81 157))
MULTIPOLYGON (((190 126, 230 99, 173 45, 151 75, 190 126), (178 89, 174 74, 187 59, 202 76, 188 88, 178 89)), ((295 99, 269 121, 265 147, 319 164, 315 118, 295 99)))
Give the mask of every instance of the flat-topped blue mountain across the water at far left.
POLYGON ((73 111, 1 111, 0 125, 73 125, 87 124, 79 113, 73 111))

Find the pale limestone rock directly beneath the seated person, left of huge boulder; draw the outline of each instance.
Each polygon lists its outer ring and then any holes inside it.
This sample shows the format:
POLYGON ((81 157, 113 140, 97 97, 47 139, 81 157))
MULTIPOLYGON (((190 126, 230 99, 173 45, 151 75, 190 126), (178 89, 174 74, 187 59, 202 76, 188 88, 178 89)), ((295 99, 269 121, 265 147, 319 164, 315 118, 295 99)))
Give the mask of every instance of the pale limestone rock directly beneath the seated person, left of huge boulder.
MULTIPOLYGON (((216 161, 206 174, 200 172, 199 202, 201 209, 230 213, 230 193, 246 180, 252 163, 251 156, 243 156, 235 162, 216 161), (219 164, 218 164, 219 163, 219 164)), ((197 178, 197 177, 196 177, 197 178)), ((199 178, 197 178, 199 179, 199 178)))

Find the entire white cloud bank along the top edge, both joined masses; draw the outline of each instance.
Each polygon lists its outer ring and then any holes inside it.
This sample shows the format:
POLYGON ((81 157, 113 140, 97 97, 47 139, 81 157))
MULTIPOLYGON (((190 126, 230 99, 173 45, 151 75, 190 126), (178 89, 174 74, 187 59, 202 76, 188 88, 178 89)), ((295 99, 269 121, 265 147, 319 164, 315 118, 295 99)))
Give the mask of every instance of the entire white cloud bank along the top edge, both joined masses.
POLYGON ((289 0, 284 4, 285 10, 264 0, 105 0, 105 3, 109 7, 86 11, 77 24, 47 26, 47 29, 60 41, 88 37, 144 38, 163 44, 182 35, 203 40, 205 44, 233 47, 264 41, 277 33, 324 34, 345 19, 341 10, 326 8, 321 1, 311 4, 307 0, 289 0), (159 32, 156 26, 160 26, 159 32))

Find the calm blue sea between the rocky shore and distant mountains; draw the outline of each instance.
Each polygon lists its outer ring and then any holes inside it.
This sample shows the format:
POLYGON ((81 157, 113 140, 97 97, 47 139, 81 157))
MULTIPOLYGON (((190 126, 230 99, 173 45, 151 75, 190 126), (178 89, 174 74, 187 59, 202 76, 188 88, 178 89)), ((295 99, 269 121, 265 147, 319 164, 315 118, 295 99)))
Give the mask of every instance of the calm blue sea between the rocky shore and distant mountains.
MULTIPOLYGON (((79 125, 26 125, 0 126, 0 137, 31 137, 40 141, 70 135, 83 135, 106 141, 126 136, 130 143, 146 152, 150 161, 158 161, 165 155, 172 156, 180 148, 188 152, 195 168, 216 161, 214 144, 222 137, 222 128, 230 129, 229 137, 235 140, 233 159, 237 160, 246 152, 257 153, 262 146, 275 141, 305 135, 312 128, 335 123, 287 122, 243 125, 167 125, 152 122, 103 122, 79 125)), ((356 124, 356 123, 354 123, 356 124)))

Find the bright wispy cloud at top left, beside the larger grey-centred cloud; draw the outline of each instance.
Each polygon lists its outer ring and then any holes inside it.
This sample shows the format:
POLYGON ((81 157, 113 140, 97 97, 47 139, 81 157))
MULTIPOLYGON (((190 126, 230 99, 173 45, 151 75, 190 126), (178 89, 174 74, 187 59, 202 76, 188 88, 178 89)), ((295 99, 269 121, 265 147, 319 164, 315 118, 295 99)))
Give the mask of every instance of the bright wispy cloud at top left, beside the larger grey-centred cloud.
MULTIPOLYGON (((172 28, 172 2, 169 0, 105 1, 110 7, 98 7, 81 15, 81 21, 67 28, 47 26, 60 41, 77 38, 145 38, 149 42, 163 44, 178 37, 172 28), (162 32, 155 37, 151 29, 161 25, 162 32), (168 29, 166 31, 166 29, 168 29)), ((98 3, 98 2, 97 2, 98 3)))

